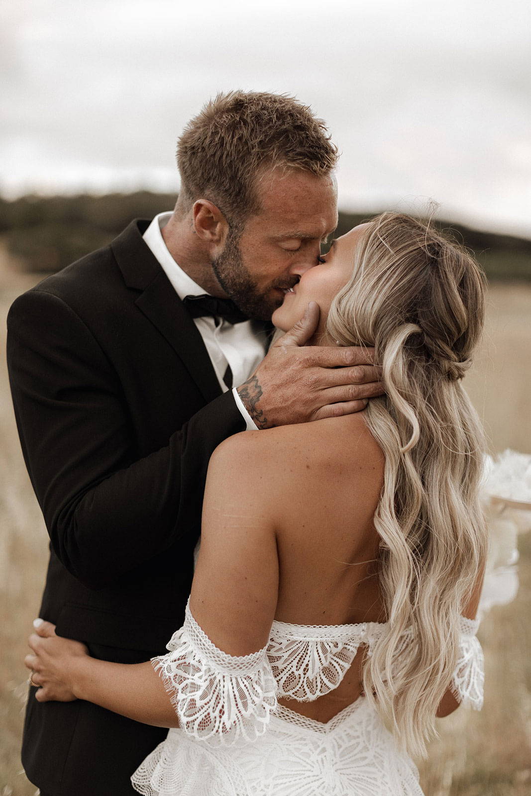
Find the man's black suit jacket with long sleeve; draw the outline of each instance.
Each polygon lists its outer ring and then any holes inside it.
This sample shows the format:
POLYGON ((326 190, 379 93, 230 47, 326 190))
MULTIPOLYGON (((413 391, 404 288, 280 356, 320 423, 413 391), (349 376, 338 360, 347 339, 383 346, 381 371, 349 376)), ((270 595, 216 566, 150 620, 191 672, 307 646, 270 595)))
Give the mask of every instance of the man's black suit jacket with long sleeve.
MULTIPOLYGON (((135 221, 21 295, 8 365, 29 477, 50 536, 40 616, 111 661, 165 651, 193 576, 209 457, 243 431, 201 335, 135 221)), ((30 689, 22 761, 54 796, 133 794, 166 735, 30 689)))

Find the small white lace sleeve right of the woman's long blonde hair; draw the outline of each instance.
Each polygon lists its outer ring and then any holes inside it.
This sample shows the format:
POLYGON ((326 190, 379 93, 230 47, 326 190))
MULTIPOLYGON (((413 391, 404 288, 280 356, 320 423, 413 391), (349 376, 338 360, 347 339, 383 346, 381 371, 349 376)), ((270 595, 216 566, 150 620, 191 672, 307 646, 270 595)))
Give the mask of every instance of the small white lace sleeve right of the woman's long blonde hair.
POLYGON ((483 705, 483 685, 485 681, 483 651, 476 638, 479 622, 477 619, 459 618, 461 639, 459 660, 451 681, 451 693, 462 704, 470 704, 474 710, 483 705))

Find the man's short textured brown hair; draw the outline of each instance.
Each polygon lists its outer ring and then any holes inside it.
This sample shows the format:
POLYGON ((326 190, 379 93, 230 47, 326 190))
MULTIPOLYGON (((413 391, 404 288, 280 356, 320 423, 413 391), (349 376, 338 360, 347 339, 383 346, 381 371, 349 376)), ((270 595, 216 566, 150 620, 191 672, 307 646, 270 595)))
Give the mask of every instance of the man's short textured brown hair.
POLYGON ((265 92, 218 94, 186 125, 177 150, 185 206, 208 199, 236 226, 260 209, 260 170, 283 166, 325 176, 337 160, 325 123, 310 107, 265 92))

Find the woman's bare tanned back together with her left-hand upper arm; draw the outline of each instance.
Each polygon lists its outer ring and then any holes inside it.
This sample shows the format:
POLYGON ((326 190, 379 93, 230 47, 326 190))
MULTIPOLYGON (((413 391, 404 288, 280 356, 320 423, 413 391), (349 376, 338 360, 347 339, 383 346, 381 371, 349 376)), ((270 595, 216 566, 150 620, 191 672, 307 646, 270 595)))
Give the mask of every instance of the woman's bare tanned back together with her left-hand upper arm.
MULTIPOLYGON (((385 621, 373 525, 383 471, 360 415, 245 431, 217 448, 190 607, 220 650, 259 650, 273 619, 385 621)), ((356 700, 362 650, 334 692, 287 706, 327 721, 356 700)))

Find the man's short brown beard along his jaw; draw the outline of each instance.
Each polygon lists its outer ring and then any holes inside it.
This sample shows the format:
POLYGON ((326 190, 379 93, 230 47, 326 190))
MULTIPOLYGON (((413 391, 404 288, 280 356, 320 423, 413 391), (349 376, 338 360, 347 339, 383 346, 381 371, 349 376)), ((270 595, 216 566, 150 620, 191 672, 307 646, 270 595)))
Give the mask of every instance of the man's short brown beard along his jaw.
POLYGON ((223 252, 212 261, 214 274, 228 297, 232 298, 248 318, 271 321, 271 315, 280 306, 282 299, 275 300, 268 295, 274 285, 270 285, 266 293, 258 291, 252 275, 244 266, 239 242, 240 231, 232 228, 228 232, 223 252))

